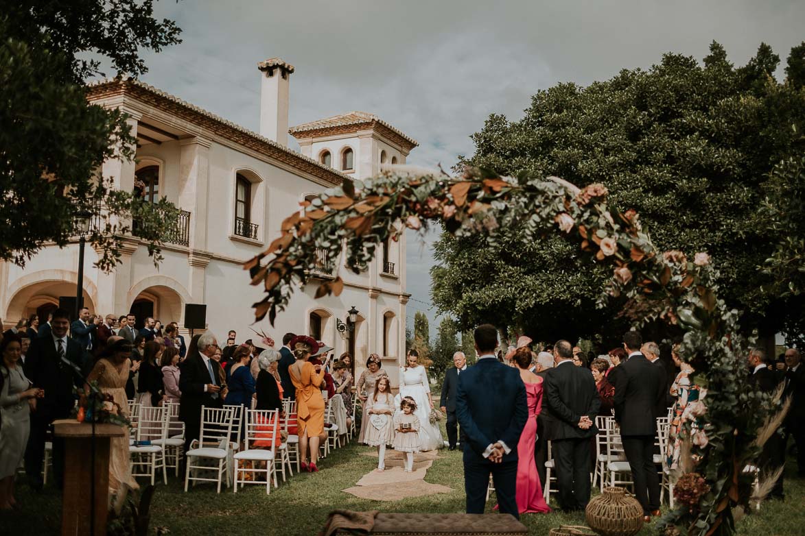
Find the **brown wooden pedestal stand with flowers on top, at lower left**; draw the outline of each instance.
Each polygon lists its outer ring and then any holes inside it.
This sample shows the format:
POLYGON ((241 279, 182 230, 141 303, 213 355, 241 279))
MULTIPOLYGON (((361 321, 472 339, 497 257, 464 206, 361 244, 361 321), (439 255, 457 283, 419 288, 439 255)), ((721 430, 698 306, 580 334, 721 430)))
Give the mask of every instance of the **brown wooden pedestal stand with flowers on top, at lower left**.
POLYGON ((102 536, 106 534, 109 509, 109 439, 123 436, 126 432, 117 424, 96 424, 93 440, 92 423, 61 419, 53 422, 53 433, 64 439, 61 534, 102 536), (94 458, 91 455, 93 441, 94 458), (91 493, 93 469, 94 494, 91 493), (90 527, 90 519, 94 530, 90 527))

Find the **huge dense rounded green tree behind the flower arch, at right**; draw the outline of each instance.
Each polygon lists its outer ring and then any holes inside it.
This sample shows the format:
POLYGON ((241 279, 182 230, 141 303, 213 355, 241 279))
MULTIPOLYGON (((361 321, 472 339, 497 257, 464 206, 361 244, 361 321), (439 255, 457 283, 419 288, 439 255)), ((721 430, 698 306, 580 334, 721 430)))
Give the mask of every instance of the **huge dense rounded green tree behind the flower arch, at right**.
MULTIPOLYGON (((648 70, 623 70, 586 88, 558 84, 532 97, 520 121, 492 115, 473 135, 464 164, 502 174, 558 175, 605 182, 611 202, 639 212, 666 249, 707 251, 718 260, 723 297, 743 325, 774 333, 790 318, 787 298, 763 290, 758 271, 778 234, 753 226, 770 170, 801 152, 805 125, 803 50, 792 49, 786 81, 766 44, 740 68, 712 43, 703 63, 667 54, 648 70)), ((507 229, 493 246, 443 235, 432 294, 466 328, 496 321, 536 339, 617 332, 622 303, 592 310, 605 274, 579 268, 578 246, 528 241, 507 229)))

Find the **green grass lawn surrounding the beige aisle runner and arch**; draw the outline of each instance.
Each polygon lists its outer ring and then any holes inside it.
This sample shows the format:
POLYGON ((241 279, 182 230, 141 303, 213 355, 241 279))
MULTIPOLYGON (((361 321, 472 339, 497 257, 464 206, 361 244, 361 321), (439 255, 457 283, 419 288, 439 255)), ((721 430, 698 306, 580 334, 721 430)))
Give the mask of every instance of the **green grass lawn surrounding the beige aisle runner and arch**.
MULTIPOLYGON (((247 487, 237 494, 232 489, 215 493, 213 485, 197 485, 184 493, 179 479, 169 477, 168 485, 158 484, 151 510, 151 533, 156 526, 166 526, 170 534, 225 534, 257 536, 283 534, 310 536, 316 534, 332 509, 379 509, 384 512, 458 513, 464 511, 464 477, 460 452, 440 451, 444 459, 436 460, 428 469, 426 481, 447 485, 451 493, 415 497, 394 502, 369 501, 353 497, 341 490, 355 485, 376 467, 377 460, 360 456, 369 447, 351 444, 332 452, 320 464, 320 473, 297 475, 266 496, 259 485, 247 487)), ((769 501, 762 512, 744 518, 740 534, 774 536, 805 533, 805 481, 797 480, 795 467, 789 460, 786 479, 786 501, 769 501)), ((60 496, 49 486, 41 494, 19 487, 18 499, 23 509, 0 513, 0 534, 57 534, 60 519, 60 496)), ((493 500, 490 501, 491 509, 493 500)), ((560 524, 584 524, 582 514, 526 514, 522 522, 530 534, 547 534, 560 524)), ((645 528, 640 534, 654 534, 645 528)))

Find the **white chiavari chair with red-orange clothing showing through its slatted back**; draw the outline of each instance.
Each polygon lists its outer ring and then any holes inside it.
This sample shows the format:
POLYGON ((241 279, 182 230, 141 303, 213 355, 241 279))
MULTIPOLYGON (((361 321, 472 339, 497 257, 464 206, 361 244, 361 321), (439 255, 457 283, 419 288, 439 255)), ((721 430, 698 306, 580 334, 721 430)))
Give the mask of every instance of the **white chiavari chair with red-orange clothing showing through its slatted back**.
POLYGON ((266 495, 271 493, 271 479, 274 479, 274 487, 278 487, 277 468, 275 460, 277 452, 274 446, 275 438, 279 434, 279 411, 277 410, 249 410, 246 412, 246 444, 245 449, 234 455, 235 482, 234 493, 237 493, 237 485, 241 487, 246 484, 262 484, 257 476, 261 473, 266 475, 266 495), (270 448, 258 447, 256 443, 266 442, 270 448), (252 462, 251 468, 241 467, 245 461, 252 462), (255 467, 258 463, 265 463, 266 468, 255 467), (254 475, 254 480, 246 480, 246 474, 254 475))

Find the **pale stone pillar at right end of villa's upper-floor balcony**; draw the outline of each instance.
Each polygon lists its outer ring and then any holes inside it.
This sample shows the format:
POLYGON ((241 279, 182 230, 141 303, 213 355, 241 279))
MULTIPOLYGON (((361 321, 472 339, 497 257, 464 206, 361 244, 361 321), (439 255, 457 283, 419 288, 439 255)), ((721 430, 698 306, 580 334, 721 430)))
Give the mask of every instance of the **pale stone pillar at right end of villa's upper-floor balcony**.
POLYGON ((181 139, 179 207, 190 211, 190 248, 207 249, 209 147, 203 137, 181 139))

